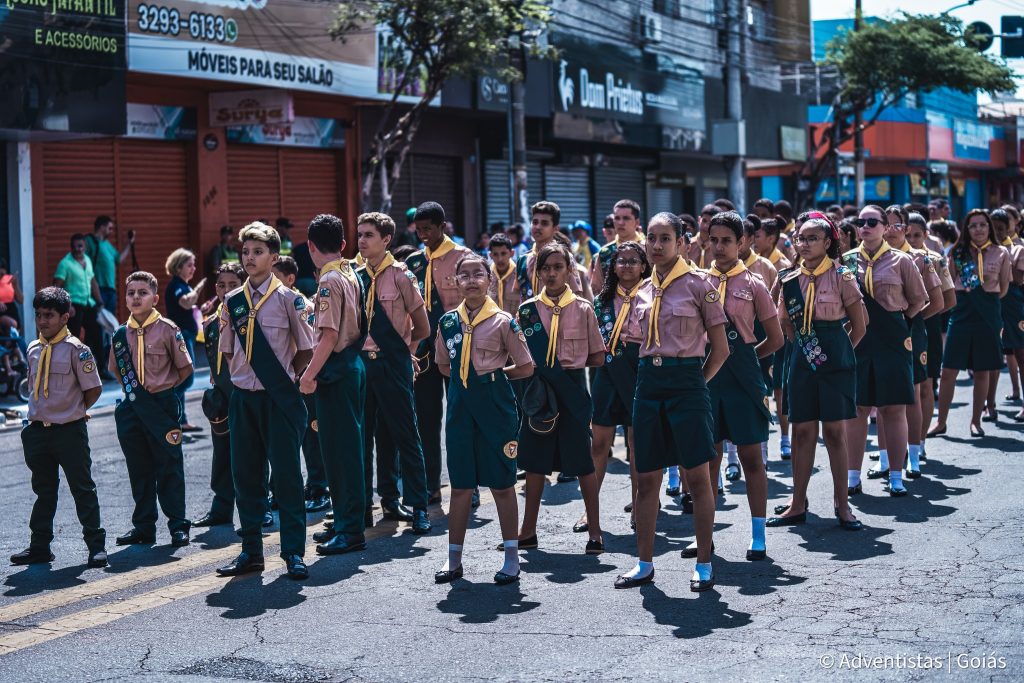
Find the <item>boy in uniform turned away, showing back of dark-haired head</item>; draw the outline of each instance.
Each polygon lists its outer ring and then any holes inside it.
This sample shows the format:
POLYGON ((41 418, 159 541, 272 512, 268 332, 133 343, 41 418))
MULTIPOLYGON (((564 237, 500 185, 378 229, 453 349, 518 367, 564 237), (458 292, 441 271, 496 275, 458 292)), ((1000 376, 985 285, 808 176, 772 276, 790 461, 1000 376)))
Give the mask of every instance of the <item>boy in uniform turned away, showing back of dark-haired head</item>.
POLYGON ((309 223, 309 256, 321 278, 313 298, 316 346, 299 390, 314 398, 317 435, 334 505, 333 538, 316 546, 318 555, 367 547, 364 511, 362 416, 367 373, 359 357, 366 340, 362 285, 341 256, 345 227, 321 214, 309 223))

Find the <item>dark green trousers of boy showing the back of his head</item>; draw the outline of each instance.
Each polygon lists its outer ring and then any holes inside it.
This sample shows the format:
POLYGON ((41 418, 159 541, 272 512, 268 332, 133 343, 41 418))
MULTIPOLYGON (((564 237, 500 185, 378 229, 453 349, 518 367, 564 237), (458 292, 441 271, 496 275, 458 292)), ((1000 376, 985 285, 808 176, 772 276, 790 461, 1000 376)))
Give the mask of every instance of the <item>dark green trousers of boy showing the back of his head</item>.
POLYGON ((317 382, 316 424, 319 450, 331 487, 334 528, 339 533, 366 530, 367 496, 362 474, 362 410, 367 373, 352 354, 337 382, 317 382))

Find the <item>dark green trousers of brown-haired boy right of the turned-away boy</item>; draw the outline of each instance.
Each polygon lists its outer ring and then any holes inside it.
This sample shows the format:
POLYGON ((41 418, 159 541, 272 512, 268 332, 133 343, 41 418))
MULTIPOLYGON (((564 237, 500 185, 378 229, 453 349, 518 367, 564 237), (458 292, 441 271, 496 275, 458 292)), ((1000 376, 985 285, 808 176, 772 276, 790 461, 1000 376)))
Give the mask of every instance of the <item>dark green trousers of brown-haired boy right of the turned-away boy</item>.
MULTIPOLYGON (((381 355, 376 359, 369 359, 366 353, 362 358, 367 367, 367 395, 373 394, 377 404, 377 424, 383 424, 387 428, 398 450, 402 502, 414 509, 426 508, 427 475, 414 409, 412 362, 404 358, 394 360, 381 355)), ((417 385, 419 382, 417 379, 417 385)), ((437 410, 440 410, 439 405, 437 410)), ((378 483, 380 478, 381 473, 378 471, 378 483)))

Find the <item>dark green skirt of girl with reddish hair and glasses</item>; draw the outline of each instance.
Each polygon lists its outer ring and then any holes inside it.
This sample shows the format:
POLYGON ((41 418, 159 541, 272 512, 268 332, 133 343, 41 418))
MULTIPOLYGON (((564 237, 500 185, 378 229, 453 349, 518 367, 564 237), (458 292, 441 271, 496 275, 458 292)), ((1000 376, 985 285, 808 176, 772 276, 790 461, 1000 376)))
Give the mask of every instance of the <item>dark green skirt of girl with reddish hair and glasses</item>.
POLYGON ((790 422, 837 422, 857 417, 857 358, 841 321, 814 323, 816 358, 811 370, 803 349, 791 345, 785 393, 790 422))

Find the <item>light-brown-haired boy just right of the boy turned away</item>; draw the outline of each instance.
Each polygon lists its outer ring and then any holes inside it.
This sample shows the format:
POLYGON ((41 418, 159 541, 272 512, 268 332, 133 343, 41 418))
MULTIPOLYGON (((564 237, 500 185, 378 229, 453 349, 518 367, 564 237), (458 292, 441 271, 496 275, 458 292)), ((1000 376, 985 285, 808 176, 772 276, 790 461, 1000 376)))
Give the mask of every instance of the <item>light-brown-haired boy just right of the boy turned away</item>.
MULTIPOLYGON (((427 533, 430 531, 427 478, 414 409, 413 367, 415 349, 430 334, 430 322, 416 275, 388 251, 394 239, 394 221, 387 214, 376 212, 360 215, 356 225, 359 254, 366 262, 366 266, 357 271, 366 291, 369 333, 362 345, 362 361, 367 371, 366 416, 368 422, 376 424, 377 430, 387 434, 384 439, 378 434, 377 439, 377 489, 385 517, 412 521, 413 532, 427 533), (397 500, 394 455, 389 449, 381 447, 382 441, 393 443, 397 449, 401 463, 403 506, 398 505, 397 500), (408 508, 412 508, 413 512, 410 513, 408 508)), ((371 440, 367 434, 364 439, 364 463, 368 504, 373 500, 371 440)))

